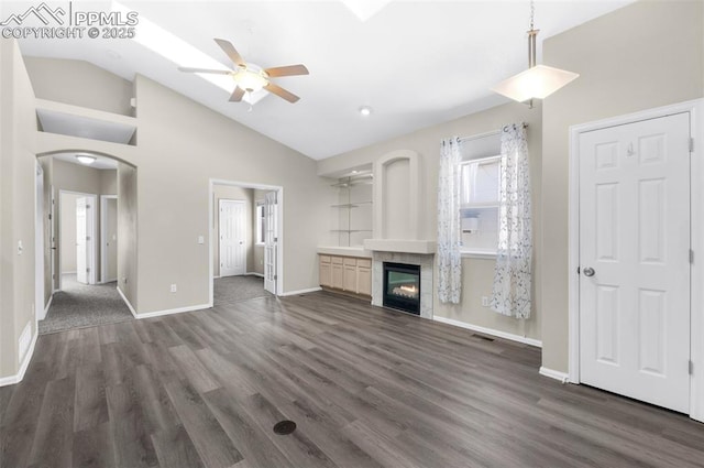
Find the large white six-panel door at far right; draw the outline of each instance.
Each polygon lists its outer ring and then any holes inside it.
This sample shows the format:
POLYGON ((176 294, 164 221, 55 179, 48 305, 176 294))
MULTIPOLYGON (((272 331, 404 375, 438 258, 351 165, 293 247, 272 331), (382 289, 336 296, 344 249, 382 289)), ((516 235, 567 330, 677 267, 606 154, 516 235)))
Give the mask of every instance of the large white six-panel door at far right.
POLYGON ((580 380, 690 405, 690 116, 580 137, 580 380))

